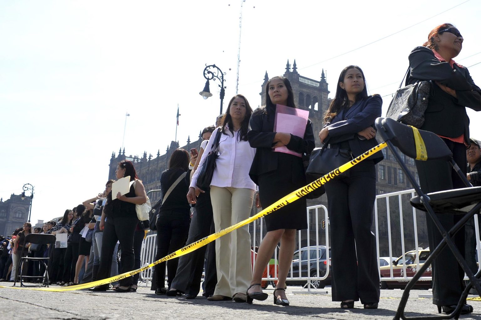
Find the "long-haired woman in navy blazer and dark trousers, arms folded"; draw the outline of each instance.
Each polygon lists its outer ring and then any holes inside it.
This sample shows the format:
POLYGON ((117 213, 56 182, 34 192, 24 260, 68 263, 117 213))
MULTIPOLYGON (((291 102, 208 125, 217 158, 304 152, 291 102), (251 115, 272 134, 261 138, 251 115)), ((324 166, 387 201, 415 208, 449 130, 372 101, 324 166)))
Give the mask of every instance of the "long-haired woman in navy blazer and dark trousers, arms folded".
MULTIPOLYGON (((366 79, 360 67, 345 67, 337 83, 319 133, 321 143, 348 149, 355 158, 375 147, 374 120, 381 116, 380 95, 367 95, 366 79)), ((329 223, 332 230, 332 301, 353 308, 361 300, 364 308, 379 303, 379 273, 376 237, 371 233, 372 208, 376 198, 376 167, 380 152, 356 164, 349 176, 326 184, 329 223)), ((346 160, 347 162, 347 160, 346 160)))

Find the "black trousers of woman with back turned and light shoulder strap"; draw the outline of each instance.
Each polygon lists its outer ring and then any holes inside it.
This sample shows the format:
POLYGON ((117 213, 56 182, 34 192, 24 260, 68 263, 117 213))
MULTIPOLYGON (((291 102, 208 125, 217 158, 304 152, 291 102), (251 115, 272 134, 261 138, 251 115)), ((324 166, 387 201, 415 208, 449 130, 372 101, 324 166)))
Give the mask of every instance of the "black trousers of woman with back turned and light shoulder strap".
MULTIPOLYGON (((189 234, 190 214, 174 211, 161 211, 157 218, 157 253, 155 260, 182 248, 189 234)), ((167 283, 170 288, 177 273, 179 259, 172 259, 155 266, 157 288, 165 287, 165 264, 167 283)), ((175 288, 175 287, 174 287, 175 288)), ((177 289, 177 288, 176 288, 177 289)))

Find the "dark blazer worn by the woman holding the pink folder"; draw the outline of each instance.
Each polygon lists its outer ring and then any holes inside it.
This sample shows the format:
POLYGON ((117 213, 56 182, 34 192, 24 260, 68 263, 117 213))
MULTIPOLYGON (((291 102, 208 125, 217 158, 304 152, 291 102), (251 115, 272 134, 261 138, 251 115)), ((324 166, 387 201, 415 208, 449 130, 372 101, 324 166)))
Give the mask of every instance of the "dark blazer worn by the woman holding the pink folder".
MULTIPOLYGON (((251 147, 256 148, 249 176, 257 184, 257 177, 262 173, 277 170, 278 152, 272 151, 275 109, 266 110, 265 107, 254 110, 249 121, 247 138, 251 147)), ((311 120, 307 120, 304 137, 291 134, 291 141, 286 146, 292 151, 310 154, 314 149, 314 133, 311 120)))

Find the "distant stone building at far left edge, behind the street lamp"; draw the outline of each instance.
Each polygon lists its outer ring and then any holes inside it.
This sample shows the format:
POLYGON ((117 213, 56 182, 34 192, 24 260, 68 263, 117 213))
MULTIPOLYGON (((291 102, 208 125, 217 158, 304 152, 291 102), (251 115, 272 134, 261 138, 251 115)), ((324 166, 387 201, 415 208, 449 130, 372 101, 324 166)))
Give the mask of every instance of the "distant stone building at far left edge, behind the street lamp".
POLYGON ((0 199, 0 235, 11 235, 28 220, 30 197, 12 194, 10 199, 0 199))

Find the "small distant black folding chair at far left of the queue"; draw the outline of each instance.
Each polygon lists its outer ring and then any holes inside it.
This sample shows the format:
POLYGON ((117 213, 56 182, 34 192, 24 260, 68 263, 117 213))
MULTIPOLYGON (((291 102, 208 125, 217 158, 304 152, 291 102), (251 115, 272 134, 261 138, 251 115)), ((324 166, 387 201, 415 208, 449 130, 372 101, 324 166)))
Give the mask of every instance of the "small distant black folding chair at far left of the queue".
POLYGON ((21 287, 42 287, 42 286, 49 286, 49 260, 51 258, 51 255, 52 255, 52 252, 53 250, 51 250, 51 253, 50 253, 50 256, 47 257, 47 258, 32 258, 32 257, 26 257, 24 256, 24 250, 28 250, 28 249, 25 249, 25 245, 27 243, 31 243, 31 244, 39 244, 39 245, 43 245, 43 244, 51 244, 51 245, 55 245, 55 236, 52 235, 52 234, 43 234, 43 233, 30 233, 30 234, 27 234, 25 236, 25 240, 24 240, 24 246, 22 247, 22 253, 20 255, 20 261, 18 262, 18 267, 17 267, 17 271, 16 271, 16 274, 15 274, 15 280, 13 282, 13 285, 15 285, 15 283, 17 282, 17 277, 19 276, 19 273, 20 273, 20 286, 21 287), (45 273, 42 275, 42 276, 23 276, 22 275, 22 267, 25 263, 25 261, 39 261, 40 263, 43 263, 43 266, 45 267, 45 273), (24 278, 42 278, 42 284, 38 284, 38 285, 25 285, 24 284, 24 278))

